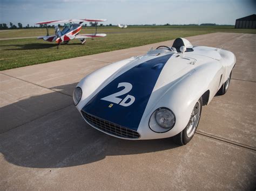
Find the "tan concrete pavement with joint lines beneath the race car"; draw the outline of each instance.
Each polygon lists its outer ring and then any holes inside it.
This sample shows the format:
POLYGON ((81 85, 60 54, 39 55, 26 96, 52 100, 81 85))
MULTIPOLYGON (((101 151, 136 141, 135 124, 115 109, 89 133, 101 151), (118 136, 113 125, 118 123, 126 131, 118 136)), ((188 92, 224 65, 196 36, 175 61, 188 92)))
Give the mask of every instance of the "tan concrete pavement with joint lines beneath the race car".
POLYGON ((0 72, 0 189, 255 190, 256 34, 188 37, 237 56, 230 89, 203 107, 186 146, 99 132, 72 104, 82 77, 173 40, 0 72))

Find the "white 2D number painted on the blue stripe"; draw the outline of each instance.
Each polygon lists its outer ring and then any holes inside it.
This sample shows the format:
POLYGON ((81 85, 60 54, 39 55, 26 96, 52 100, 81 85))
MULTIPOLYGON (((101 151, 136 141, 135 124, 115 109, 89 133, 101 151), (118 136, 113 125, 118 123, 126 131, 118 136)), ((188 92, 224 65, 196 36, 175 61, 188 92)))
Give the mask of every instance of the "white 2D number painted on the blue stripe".
POLYGON ((129 91, 131 91, 131 89, 132 89, 132 84, 128 83, 128 82, 121 82, 118 84, 117 88, 120 88, 120 87, 124 87, 124 89, 121 91, 118 91, 117 93, 103 97, 100 100, 117 103, 124 107, 130 106, 131 104, 133 104, 133 102, 135 101, 135 97, 132 95, 127 95, 123 100, 118 97, 118 96, 122 96, 124 94, 129 93, 129 91), (127 102, 127 101, 129 101, 129 102, 127 102))

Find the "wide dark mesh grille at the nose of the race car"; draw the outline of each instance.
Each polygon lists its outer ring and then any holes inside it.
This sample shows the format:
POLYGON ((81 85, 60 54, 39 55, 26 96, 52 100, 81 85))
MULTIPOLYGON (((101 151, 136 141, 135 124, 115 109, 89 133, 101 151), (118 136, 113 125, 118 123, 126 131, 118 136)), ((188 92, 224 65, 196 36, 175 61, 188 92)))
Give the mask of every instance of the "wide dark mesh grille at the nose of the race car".
POLYGON ((92 126, 95 126, 99 130, 102 130, 104 132, 110 133, 111 135, 130 139, 137 139, 140 137, 137 131, 127 129, 123 126, 105 121, 104 119, 100 119, 98 117, 87 114, 84 111, 82 111, 82 115, 84 116, 86 121, 89 122, 92 126))

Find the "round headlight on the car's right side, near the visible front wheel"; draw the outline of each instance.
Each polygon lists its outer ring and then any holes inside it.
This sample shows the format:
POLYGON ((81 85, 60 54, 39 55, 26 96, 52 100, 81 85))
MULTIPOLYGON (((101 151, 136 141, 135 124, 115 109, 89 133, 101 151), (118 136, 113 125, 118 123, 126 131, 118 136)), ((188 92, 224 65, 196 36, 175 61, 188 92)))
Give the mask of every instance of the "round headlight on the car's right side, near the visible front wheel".
POLYGON ((175 125, 176 118, 168 108, 159 108, 150 117, 149 126, 154 132, 167 132, 175 125))

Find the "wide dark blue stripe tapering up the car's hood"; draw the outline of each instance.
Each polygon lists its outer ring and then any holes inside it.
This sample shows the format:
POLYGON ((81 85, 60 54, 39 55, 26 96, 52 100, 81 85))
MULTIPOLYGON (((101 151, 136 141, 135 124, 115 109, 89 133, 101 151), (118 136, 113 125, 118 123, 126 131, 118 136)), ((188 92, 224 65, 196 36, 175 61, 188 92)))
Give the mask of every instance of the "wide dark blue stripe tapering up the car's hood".
MULTIPOLYGON (((137 131, 161 70, 171 56, 172 54, 160 56, 127 70, 100 90, 82 110, 106 121, 137 131), (120 100, 122 103, 122 100, 130 95, 128 97, 135 98, 131 105, 125 107, 119 101, 114 103, 114 101, 102 100, 106 96, 124 90, 124 87, 118 88, 118 84, 122 82, 130 83, 132 89, 124 95, 117 96, 116 100, 120 100), (113 105, 111 106, 111 104, 113 105)), ((125 100, 125 103, 129 103, 132 99, 127 98, 125 100)))

